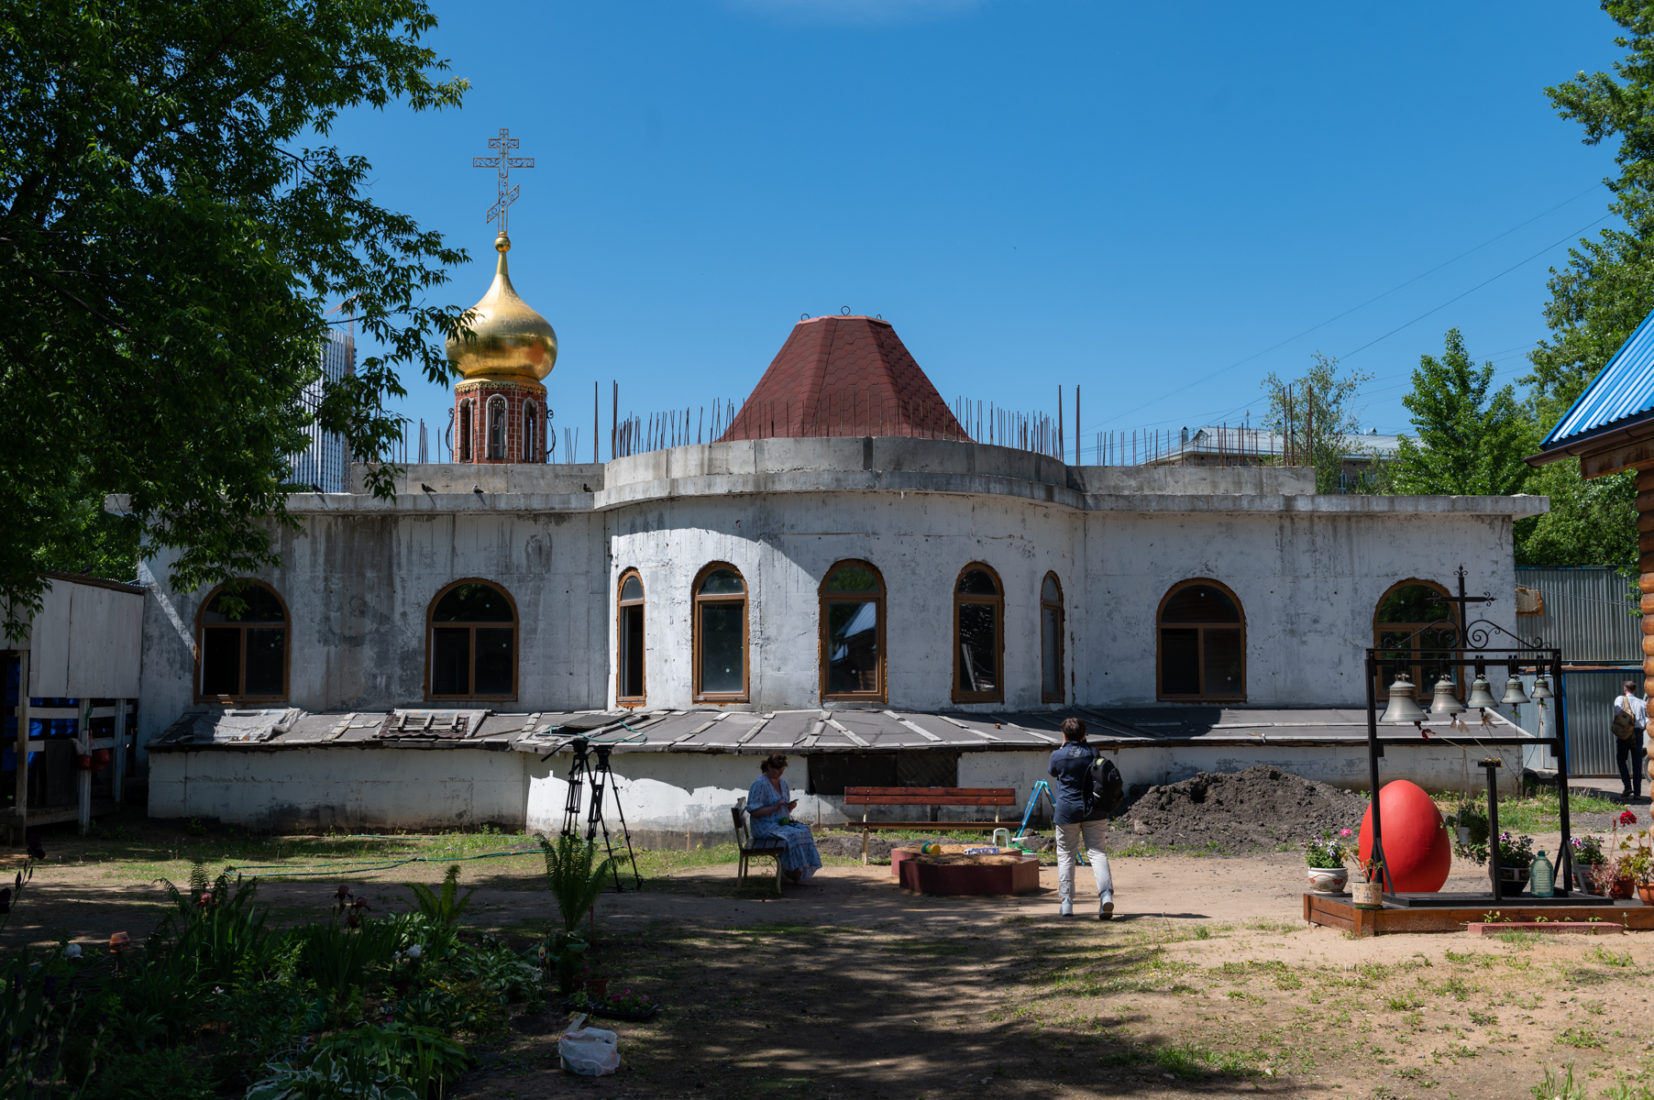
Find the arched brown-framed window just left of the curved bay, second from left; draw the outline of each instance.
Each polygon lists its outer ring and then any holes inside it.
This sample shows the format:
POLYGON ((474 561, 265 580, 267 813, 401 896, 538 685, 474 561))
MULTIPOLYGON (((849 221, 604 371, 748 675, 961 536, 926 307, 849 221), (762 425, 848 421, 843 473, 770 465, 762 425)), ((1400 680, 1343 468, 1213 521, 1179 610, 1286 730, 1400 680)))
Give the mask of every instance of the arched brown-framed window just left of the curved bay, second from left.
POLYGON ((455 581, 430 602, 425 695, 516 698, 516 605, 486 581, 455 581))

